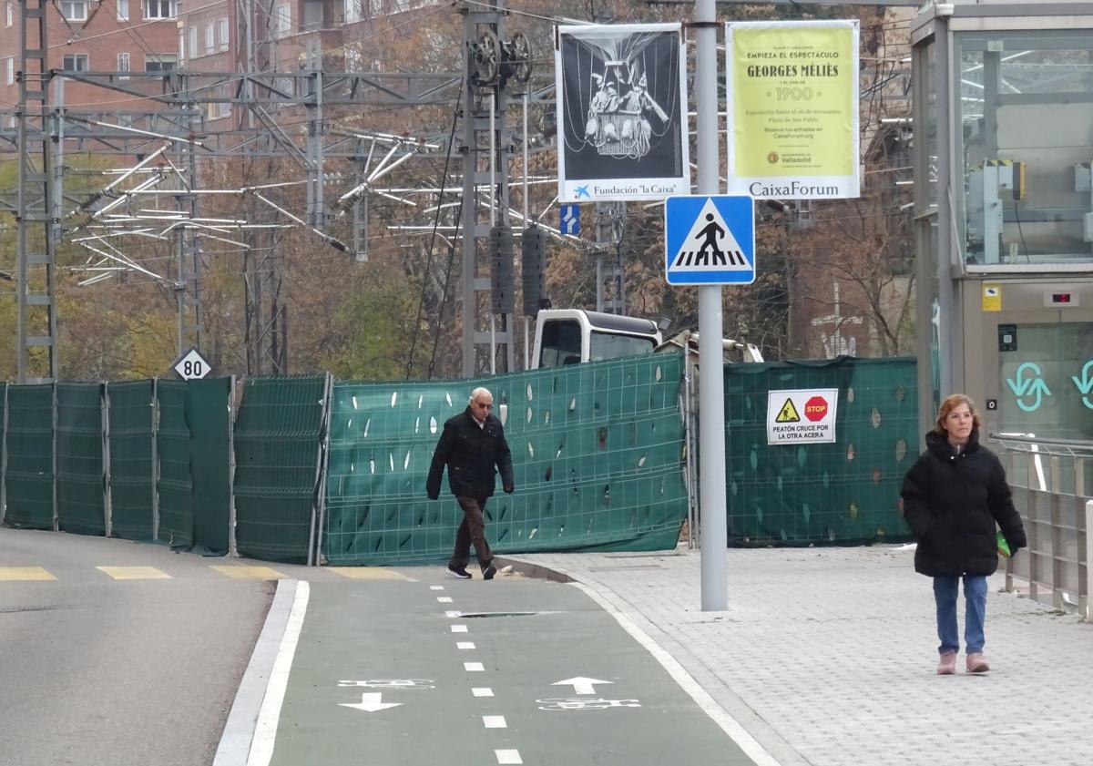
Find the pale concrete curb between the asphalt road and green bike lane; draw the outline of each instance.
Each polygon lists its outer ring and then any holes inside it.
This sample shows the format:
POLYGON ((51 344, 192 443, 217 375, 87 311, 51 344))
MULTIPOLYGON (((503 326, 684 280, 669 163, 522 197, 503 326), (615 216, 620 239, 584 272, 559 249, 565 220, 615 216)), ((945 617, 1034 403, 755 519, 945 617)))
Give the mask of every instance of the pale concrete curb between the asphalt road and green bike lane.
POLYGON ((270 604, 270 611, 266 615, 266 624, 255 644, 255 651, 250 656, 250 662, 247 663, 247 670, 239 682, 239 690, 235 693, 235 702, 232 703, 232 711, 227 715, 227 722, 224 723, 224 732, 216 746, 213 766, 246 766, 247 764, 250 744, 255 739, 255 729, 258 724, 258 714, 261 710, 262 700, 266 698, 266 688, 273 670, 273 661, 281 648, 281 639, 289 625, 289 613, 296 598, 297 582, 298 580, 291 579, 278 580, 277 593, 273 596, 273 603, 270 604))

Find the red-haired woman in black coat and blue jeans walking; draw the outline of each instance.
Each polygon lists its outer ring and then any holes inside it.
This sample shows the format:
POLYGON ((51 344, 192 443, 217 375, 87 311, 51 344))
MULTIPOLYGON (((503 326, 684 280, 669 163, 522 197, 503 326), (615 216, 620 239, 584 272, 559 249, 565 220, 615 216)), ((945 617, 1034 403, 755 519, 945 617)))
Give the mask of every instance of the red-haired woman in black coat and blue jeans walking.
POLYGON ((926 451, 907 471, 900 492, 904 518, 918 541, 915 571, 933 578, 941 640, 939 675, 956 672, 961 579, 967 672, 990 670, 983 657, 983 624, 987 576, 998 568, 995 523, 1001 527, 1012 553, 1029 544, 1002 463, 979 444, 980 425, 975 403, 966 394, 954 393, 941 402, 937 423, 926 435, 926 451))

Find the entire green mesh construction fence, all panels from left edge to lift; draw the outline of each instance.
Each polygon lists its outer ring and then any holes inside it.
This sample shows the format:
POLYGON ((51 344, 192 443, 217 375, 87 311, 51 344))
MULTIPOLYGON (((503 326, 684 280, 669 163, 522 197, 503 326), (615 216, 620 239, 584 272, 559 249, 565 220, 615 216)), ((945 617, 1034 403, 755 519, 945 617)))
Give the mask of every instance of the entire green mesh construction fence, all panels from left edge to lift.
MULTIPOLYGON (((689 508, 683 364, 656 354, 474 380, 2 385, 0 514, 274 562, 440 561, 461 511, 446 482, 428 500, 425 476, 445 420, 483 385, 517 488, 486 506, 498 553, 671 549, 689 508)), ((897 502, 918 445, 915 360, 728 365, 724 376, 730 544, 907 538, 897 502), (767 444, 771 390, 832 388, 834 443, 767 444)))

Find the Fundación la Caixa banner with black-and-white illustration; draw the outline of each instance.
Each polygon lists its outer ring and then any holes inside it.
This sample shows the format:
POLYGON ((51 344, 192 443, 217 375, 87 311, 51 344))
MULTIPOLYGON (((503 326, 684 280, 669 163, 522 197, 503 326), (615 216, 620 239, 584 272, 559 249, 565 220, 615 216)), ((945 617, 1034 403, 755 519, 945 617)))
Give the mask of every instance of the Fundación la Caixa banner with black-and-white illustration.
POLYGON ((680 25, 560 26, 554 46, 559 201, 691 193, 680 25))

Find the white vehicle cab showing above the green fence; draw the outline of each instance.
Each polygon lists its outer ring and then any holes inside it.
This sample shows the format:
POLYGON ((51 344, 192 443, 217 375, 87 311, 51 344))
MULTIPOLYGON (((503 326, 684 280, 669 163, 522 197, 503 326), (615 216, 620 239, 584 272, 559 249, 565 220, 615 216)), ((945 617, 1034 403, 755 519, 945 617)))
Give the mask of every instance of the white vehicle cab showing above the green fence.
POLYGON ((651 354, 662 341, 651 319, 580 308, 546 308, 536 316, 531 368, 651 354))

